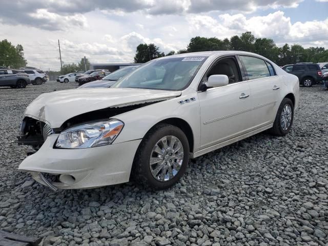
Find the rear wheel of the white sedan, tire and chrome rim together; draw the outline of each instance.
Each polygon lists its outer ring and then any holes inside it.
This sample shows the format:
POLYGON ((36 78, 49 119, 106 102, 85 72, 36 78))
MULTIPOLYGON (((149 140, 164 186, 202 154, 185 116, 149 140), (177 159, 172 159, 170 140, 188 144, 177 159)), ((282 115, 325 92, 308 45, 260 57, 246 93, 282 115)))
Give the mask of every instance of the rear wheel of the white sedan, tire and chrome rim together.
POLYGON ((276 136, 285 136, 292 128, 294 120, 294 106, 292 100, 283 98, 273 127, 270 129, 271 133, 276 136))

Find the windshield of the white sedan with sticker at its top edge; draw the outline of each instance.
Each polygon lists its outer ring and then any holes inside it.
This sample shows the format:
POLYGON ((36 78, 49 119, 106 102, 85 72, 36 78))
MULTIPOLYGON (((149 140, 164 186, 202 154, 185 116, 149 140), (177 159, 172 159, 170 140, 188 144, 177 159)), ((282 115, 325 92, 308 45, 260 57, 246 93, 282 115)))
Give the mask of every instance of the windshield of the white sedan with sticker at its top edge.
POLYGON ((193 56, 152 60, 112 87, 179 91, 191 83, 206 58, 193 56))

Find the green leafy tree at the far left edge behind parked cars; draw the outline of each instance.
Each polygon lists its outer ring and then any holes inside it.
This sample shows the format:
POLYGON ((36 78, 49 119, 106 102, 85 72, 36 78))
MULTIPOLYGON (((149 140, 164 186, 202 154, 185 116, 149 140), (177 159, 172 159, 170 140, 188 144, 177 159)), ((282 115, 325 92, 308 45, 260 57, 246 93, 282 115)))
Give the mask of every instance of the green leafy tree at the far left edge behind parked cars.
POLYGON ((15 47, 7 39, 0 41, 0 66, 19 68, 25 67, 26 65, 27 61, 24 58, 22 45, 15 47))

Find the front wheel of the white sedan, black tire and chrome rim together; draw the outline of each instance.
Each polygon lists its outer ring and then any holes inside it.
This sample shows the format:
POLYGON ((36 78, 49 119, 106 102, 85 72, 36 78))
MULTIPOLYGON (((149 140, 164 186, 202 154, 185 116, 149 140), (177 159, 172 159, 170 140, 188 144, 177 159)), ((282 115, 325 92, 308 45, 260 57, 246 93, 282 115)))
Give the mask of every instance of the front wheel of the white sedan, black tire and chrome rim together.
POLYGON ((180 128, 160 124, 142 139, 134 158, 137 182, 154 190, 173 186, 185 173, 189 142, 180 128))

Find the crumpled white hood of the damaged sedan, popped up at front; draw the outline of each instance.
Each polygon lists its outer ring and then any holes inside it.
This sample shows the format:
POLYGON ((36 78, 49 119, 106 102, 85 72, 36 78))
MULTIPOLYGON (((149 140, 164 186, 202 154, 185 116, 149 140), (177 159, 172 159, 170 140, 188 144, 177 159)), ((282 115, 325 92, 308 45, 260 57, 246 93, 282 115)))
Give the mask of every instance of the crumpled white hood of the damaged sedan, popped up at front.
POLYGON ((115 106, 140 104, 180 96, 180 91, 131 88, 72 89, 39 95, 26 108, 25 116, 59 128, 66 120, 87 112, 115 106))

